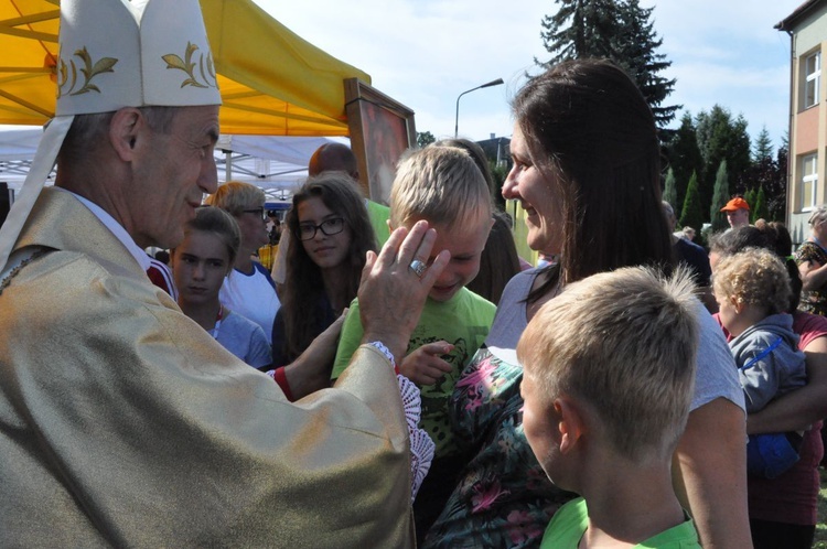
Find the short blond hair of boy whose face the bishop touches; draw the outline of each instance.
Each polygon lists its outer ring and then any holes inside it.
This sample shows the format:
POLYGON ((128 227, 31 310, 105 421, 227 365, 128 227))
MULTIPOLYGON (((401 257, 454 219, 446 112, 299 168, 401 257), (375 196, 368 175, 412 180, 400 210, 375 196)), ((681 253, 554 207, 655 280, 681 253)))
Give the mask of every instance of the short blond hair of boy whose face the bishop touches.
POLYGON ((426 147, 402 157, 390 191, 394 227, 418 219, 451 227, 481 213, 492 216, 488 186, 466 151, 426 147))

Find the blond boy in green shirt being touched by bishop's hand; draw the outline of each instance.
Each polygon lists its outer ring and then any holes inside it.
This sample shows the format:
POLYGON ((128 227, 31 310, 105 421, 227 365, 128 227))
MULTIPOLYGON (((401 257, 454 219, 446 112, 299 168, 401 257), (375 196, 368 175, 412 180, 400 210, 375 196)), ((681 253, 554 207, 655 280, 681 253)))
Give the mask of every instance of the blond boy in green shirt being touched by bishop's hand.
MULTIPOLYGON (((419 219, 437 229, 433 254, 451 252, 399 367, 421 387, 420 426, 437 444, 431 470, 414 504, 418 538, 422 539, 464 463, 451 432, 448 401, 460 372, 485 341, 496 311, 493 303, 465 288, 480 270, 480 256, 493 223, 488 187, 466 151, 428 147, 402 159, 390 193, 390 229, 410 228, 419 219)), ((430 258, 419 259, 430 262, 430 258)), ((354 300, 342 329, 334 379, 347 366, 362 333, 354 300)))

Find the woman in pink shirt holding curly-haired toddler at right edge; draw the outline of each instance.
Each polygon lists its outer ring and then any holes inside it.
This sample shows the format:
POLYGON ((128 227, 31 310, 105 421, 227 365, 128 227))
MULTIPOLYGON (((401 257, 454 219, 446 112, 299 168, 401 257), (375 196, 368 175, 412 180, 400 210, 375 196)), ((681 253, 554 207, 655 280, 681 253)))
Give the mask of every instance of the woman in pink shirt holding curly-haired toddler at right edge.
POLYGON ((792 282, 787 312, 798 348, 806 356, 807 385, 751 413, 747 432, 770 433, 804 430, 798 462, 776 478, 748 477, 750 528, 756 549, 809 548, 818 523, 818 464, 824 456, 821 419, 827 417, 827 319, 798 311, 802 280, 793 259, 793 241, 780 223, 755 222, 716 235, 710 241, 712 268, 722 257, 747 248, 772 250, 785 261, 792 282))

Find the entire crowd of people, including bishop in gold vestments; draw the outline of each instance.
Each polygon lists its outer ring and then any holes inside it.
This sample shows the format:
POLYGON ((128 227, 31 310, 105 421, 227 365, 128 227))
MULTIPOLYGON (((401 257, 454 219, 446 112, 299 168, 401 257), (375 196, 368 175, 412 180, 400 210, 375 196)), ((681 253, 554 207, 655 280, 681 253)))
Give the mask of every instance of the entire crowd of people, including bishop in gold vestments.
POLYGON ((733 197, 707 251, 633 80, 568 61, 513 100, 536 267, 453 139, 389 206, 322 147, 270 270, 264 193, 217 182, 215 83, 144 52, 206 55, 198 2, 61 3, 63 52, 119 50, 0 228, 3 543, 812 546, 827 207, 793 254, 733 197))

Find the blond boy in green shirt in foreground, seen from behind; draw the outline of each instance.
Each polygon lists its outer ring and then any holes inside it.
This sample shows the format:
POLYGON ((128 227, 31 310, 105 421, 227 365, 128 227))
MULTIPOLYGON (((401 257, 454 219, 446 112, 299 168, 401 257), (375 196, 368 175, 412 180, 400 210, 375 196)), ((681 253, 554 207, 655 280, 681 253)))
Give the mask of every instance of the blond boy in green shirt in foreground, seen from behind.
POLYGON ((623 268, 567 286, 529 322, 517 344, 526 439, 582 496, 555 513, 541 549, 700 547, 670 469, 695 383, 694 295, 683 268, 623 268))

